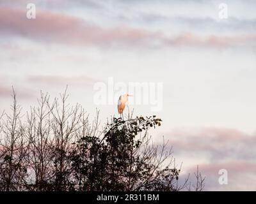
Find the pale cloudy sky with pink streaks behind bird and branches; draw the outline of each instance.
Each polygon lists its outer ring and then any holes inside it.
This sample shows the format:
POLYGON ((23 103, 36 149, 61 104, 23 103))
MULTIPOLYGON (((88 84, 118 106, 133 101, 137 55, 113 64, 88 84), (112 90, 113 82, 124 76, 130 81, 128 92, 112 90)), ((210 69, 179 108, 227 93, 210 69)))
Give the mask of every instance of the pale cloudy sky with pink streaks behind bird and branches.
POLYGON ((95 84, 163 83, 158 112, 129 105, 163 119, 154 140, 170 141, 184 173, 198 164, 207 190, 256 190, 255 8, 253 0, 0 0, 0 112, 12 85, 24 110, 40 90, 54 97, 68 85, 70 103, 92 117, 99 108, 104 123, 116 105, 95 104, 95 84), (218 183, 221 169, 228 185, 218 183))

